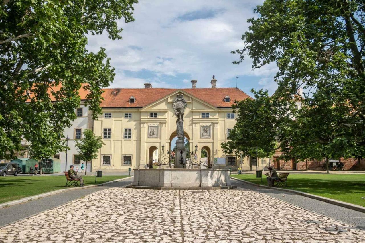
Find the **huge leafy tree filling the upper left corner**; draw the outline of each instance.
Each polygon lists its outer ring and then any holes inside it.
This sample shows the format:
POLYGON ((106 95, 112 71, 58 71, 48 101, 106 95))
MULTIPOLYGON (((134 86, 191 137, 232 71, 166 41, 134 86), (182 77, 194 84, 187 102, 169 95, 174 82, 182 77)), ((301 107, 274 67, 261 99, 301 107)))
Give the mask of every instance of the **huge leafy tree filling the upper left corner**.
POLYGON ((2 1, 0 158, 13 158, 23 139, 33 143, 45 128, 48 142, 61 146, 59 134, 76 118, 81 87, 88 92, 85 104, 96 119, 101 88, 114 80, 115 73, 103 48, 97 53, 86 49, 87 34, 105 31, 110 39, 121 39, 117 20, 133 21, 134 3, 2 1))

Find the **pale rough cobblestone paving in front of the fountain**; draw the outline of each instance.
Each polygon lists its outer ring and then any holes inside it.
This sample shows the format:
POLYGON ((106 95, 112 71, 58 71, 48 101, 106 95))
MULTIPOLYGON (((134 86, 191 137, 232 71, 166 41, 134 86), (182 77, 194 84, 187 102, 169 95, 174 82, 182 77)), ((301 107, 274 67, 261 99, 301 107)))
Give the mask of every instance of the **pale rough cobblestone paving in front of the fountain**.
POLYGON ((252 190, 111 188, 0 228, 0 242, 365 242, 364 233, 252 190))

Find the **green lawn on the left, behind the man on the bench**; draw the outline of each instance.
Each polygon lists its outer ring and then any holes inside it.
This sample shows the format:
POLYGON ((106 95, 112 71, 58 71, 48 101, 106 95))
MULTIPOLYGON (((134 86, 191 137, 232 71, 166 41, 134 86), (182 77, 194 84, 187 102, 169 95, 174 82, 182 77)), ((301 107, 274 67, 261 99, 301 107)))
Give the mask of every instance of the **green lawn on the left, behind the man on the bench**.
MULTIPOLYGON (((106 175, 96 178, 96 184, 128 177, 106 175)), ((85 186, 95 185, 95 176, 82 177, 85 186)), ((35 175, 35 176, 6 176, 0 177, 0 203, 8 202, 23 197, 34 196, 54 190, 64 189, 66 177, 63 175, 35 175)))

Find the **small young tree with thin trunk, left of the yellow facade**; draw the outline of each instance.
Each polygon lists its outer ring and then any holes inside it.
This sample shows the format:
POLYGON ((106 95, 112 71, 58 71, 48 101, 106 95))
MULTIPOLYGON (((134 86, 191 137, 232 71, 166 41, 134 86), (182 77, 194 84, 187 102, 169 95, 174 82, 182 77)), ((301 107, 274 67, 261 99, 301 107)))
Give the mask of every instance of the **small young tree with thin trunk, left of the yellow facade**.
MULTIPOLYGON (((84 135, 80 140, 76 140, 77 158, 85 162, 91 161, 97 158, 97 152, 104 146, 104 142, 101 140, 101 136, 95 136, 93 131, 85 129, 82 132, 84 135)), ((85 165, 86 175, 87 163, 85 165)))

